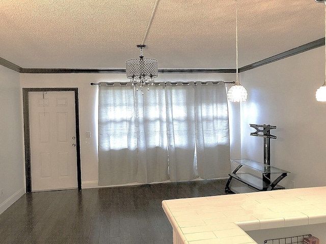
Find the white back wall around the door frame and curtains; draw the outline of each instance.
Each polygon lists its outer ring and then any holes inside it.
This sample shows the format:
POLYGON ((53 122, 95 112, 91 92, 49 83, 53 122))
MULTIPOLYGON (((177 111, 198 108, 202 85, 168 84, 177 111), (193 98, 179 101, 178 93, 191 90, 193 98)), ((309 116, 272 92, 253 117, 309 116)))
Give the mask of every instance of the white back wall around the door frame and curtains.
MULTIPOLYGON (((235 74, 159 74, 156 81, 233 81, 234 78, 235 74)), ((98 87, 91 86, 90 82, 114 81, 126 82, 128 80, 124 74, 20 74, 21 87, 78 87, 82 188, 97 187, 98 185, 98 87), (86 139, 86 131, 91 131, 91 138, 86 139)), ((238 158, 240 150, 238 133, 240 128, 238 123, 239 105, 230 104, 229 106, 232 110, 230 114, 231 155, 238 158), (236 123, 233 123, 233 121, 236 121, 236 123)))

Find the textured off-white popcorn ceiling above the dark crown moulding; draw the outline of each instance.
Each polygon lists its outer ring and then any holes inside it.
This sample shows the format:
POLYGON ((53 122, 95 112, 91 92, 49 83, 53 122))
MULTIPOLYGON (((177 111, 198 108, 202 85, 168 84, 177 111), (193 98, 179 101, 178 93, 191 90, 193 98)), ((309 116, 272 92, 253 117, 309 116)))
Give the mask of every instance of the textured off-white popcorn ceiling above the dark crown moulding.
MULTIPOLYGON (((159 69, 235 68, 235 4, 0 0, 0 57, 22 68, 125 68, 144 40, 159 69)), ((239 67, 324 37, 324 5, 314 0, 237 6, 239 67)))

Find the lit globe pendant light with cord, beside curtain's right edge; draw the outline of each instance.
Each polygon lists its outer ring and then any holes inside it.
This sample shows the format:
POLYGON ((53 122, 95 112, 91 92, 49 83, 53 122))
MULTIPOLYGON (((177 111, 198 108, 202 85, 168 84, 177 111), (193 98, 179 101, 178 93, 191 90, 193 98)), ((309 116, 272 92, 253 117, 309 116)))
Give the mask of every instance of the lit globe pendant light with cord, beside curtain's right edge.
POLYGON ((236 33, 236 79, 235 84, 228 91, 228 99, 230 102, 245 102, 247 101, 248 93, 239 82, 238 75, 238 9, 237 0, 235 0, 235 33, 236 33))

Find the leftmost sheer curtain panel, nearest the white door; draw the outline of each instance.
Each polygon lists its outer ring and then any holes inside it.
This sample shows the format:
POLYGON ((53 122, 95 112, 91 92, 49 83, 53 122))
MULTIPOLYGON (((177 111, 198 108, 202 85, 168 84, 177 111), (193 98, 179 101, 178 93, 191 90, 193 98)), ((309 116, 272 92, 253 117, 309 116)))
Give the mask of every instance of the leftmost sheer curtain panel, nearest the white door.
POLYGON ((138 168, 137 120, 132 87, 99 89, 99 185, 135 182, 138 168))

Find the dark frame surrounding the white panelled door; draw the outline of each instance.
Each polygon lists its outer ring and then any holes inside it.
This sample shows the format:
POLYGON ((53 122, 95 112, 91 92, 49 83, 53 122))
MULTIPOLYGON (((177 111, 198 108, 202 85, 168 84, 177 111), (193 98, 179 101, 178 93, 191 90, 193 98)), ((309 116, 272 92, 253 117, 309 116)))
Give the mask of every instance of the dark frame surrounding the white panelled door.
POLYGON ((77 87, 58 88, 22 88, 23 124, 24 124, 24 147, 25 147, 25 180, 26 193, 32 192, 31 175, 31 137, 30 137, 30 92, 74 92, 75 94, 75 121, 76 121, 76 160, 77 160, 77 186, 82 190, 82 170, 80 167, 80 134, 79 134, 79 99, 77 87))

